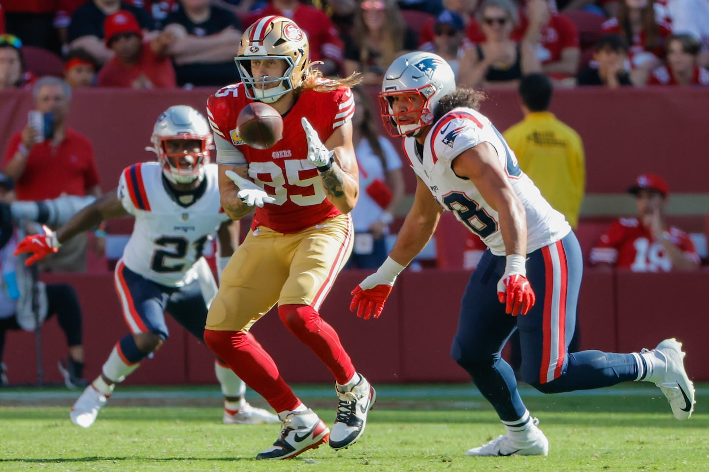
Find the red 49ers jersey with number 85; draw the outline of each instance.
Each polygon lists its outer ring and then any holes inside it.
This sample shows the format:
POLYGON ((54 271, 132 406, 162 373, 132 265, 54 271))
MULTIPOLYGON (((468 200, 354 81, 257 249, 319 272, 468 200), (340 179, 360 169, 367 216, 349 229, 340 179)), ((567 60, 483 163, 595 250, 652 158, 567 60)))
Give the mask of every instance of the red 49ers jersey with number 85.
POLYGON ((276 198, 256 208, 252 229, 259 225, 277 232, 294 233, 339 215, 325 198, 318 169, 308 162, 308 142, 301 118, 304 116, 325 142, 333 130, 352 118, 352 91, 342 87, 333 91, 305 90, 283 117, 283 138, 267 150, 247 146, 236 132, 240 111, 252 103, 243 84, 233 84, 209 97, 207 111, 213 132, 231 142, 249 164, 249 176, 276 198))

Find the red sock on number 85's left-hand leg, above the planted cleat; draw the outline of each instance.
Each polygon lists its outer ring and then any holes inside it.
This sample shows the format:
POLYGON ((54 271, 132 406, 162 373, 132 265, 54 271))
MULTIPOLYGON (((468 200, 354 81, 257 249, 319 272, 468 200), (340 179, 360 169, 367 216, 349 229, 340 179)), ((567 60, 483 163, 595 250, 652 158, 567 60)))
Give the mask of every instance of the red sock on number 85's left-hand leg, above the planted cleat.
POLYGON ((276 412, 295 410, 301 404, 251 333, 204 330, 204 342, 276 412))

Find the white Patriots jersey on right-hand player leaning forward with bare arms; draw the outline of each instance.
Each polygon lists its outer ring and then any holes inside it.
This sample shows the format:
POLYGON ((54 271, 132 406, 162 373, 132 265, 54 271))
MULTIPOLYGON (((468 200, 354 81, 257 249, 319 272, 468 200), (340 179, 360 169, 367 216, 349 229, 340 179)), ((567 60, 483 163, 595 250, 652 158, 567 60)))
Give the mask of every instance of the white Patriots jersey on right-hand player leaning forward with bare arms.
POLYGON ((469 179, 452 169, 455 157, 465 150, 489 142, 498 155, 510 185, 527 213, 527 252, 561 240, 571 231, 564 215, 542 197, 532 180, 520 169, 517 158, 501 133, 486 116, 471 108, 454 108, 431 128, 418 155, 414 137, 403 142, 409 165, 428 186, 437 202, 450 210, 467 229, 476 234, 496 256, 506 254, 498 213, 485 201, 469 179))

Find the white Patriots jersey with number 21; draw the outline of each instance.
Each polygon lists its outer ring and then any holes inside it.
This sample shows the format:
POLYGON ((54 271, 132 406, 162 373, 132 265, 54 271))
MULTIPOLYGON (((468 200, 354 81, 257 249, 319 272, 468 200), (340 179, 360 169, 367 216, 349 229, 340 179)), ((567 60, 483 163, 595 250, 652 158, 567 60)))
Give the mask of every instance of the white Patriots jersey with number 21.
POLYGON ((157 162, 123 170, 118 198, 135 217, 123 263, 145 279, 182 287, 198 278, 195 263, 229 217, 220 203, 216 164, 204 166, 206 189, 190 206, 173 200, 157 162))

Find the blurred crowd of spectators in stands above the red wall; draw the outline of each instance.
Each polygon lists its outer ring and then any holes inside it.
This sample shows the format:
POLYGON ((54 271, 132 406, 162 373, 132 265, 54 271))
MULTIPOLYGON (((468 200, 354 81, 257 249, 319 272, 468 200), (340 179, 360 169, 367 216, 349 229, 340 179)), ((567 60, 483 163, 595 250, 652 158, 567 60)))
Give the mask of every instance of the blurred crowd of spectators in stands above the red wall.
POLYGON ((233 83, 242 31, 271 14, 306 31, 325 75, 365 85, 411 50, 460 86, 709 85, 709 0, 2 0, 0 89, 233 83))

